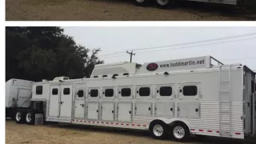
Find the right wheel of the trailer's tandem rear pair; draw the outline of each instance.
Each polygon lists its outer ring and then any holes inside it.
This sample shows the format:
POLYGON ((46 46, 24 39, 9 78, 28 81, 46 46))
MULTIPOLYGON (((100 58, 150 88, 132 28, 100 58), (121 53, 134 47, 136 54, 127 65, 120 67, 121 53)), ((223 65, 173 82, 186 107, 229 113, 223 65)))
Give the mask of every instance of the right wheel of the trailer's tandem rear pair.
POLYGON ((190 131, 186 124, 182 122, 178 122, 174 124, 172 127, 170 134, 174 137, 174 139, 178 142, 184 142, 190 135, 190 131))

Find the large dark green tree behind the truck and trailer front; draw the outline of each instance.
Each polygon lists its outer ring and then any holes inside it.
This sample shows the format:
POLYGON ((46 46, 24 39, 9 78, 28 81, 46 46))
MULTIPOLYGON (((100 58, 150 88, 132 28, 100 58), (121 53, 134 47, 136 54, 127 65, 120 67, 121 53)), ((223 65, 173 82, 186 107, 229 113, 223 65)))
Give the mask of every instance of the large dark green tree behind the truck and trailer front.
POLYGON ((89 50, 60 27, 6 27, 6 81, 90 77, 100 49, 89 50))

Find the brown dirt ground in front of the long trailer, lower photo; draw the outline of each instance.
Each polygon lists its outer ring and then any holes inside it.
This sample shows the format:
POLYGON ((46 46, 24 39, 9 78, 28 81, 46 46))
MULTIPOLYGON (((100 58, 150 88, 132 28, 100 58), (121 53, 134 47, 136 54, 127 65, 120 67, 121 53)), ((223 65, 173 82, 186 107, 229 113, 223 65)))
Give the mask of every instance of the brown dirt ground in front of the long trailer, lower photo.
MULTIPOLYGON (((186 144, 255 144, 256 140, 244 142, 229 138, 190 138, 186 144)), ((6 144, 40 143, 40 144, 182 144, 171 139, 156 140, 147 131, 120 130, 94 126, 66 126, 47 124, 44 126, 28 126, 6 120, 6 144)))

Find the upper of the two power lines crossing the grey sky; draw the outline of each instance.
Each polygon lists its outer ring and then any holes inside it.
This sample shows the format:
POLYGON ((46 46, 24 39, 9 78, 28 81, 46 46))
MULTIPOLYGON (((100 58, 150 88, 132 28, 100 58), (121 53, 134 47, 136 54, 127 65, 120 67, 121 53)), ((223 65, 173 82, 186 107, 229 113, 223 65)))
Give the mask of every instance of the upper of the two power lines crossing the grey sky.
MULTIPOLYGON (((202 40, 202 41, 196 41, 196 42, 185 42, 185 43, 178 43, 178 44, 172 44, 172 45, 166 45, 166 46, 153 46, 153 47, 138 48, 138 49, 132 49, 132 50, 159 49, 159 48, 170 47, 170 46, 182 46, 182 45, 189 45, 189 44, 201 43, 201 42, 212 42, 212 41, 218 41, 218 40, 223 40, 223 39, 246 37, 246 36, 255 35, 255 34, 256 34, 256 33, 240 34, 240 35, 235 35, 235 36, 222 37, 222 38, 212 38, 212 39, 207 39, 207 40, 202 40)), ((122 50, 122 51, 117 51, 117 52, 110 53, 110 54, 103 54, 103 55, 101 55, 101 56, 104 57, 104 56, 108 56, 108 55, 122 54, 123 52, 124 52, 124 50, 122 50)))

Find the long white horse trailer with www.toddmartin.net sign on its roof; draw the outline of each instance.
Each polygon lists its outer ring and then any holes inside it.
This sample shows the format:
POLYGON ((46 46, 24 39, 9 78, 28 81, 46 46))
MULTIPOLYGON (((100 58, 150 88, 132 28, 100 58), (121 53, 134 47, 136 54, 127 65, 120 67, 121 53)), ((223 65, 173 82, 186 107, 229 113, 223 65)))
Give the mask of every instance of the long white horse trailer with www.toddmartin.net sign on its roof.
POLYGON ((139 68, 134 62, 96 65, 91 78, 34 82, 31 101, 28 124, 43 114, 47 122, 150 130, 155 138, 171 134, 180 141, 190 134, 256 134, 255 73, 210 56, 139 68))

